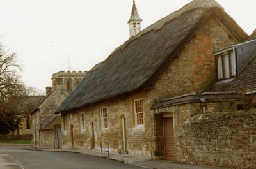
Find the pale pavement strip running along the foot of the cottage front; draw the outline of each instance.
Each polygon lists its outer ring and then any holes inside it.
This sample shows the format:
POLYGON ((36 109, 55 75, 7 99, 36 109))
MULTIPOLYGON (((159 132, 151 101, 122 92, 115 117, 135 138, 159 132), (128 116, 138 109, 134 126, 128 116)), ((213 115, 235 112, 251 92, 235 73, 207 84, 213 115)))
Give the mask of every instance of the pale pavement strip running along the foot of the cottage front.
POLYGON ((103 152, 103 156, 101 156, 101 152, 95 151, 95 150, 37 149, 33 147, 25 147, 24 149, 33 150, 33 151, 70 152, 70 153, 86 154, 88 156, 93 156, 97 158, 106 158, 109 160, 120 161, 130 165, 139 166, 142 168, 150 168, 150 169, 171 169, 171 168, 172 169, 220 169, 214 166, 177 164, 177 163, 172 163, 171 161, 153 160, 153 159, 148 159, 148 158, 143 158, 138 156, 131 156, 129 154, 117 154, 117 153, 109 152, 109 157, 108 157, 108 153, 103 152))

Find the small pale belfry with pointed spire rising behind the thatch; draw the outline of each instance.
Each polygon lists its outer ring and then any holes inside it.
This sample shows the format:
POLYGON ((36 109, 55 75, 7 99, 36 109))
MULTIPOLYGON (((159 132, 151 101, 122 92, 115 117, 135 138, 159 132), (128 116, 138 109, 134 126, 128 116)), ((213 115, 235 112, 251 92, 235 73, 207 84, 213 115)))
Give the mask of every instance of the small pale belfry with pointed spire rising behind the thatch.
POLYGON ((130 20, 128 21, 130 27, 130 37, 135 36, 141 31, 141 21, 135 1, 133 0, 132 13, 130 20))

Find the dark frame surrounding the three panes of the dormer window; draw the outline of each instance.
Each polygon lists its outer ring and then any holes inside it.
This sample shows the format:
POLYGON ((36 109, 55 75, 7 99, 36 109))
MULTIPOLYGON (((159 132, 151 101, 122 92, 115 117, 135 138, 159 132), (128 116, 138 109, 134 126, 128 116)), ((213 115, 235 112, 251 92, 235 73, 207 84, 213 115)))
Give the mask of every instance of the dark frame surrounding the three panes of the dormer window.
POLYGON ((232 50, 227 50, 225 52, 222 52, 220 54, 217 54, 215 55, 215 62, 216 62, 216 79, 218 81, 221 81, 221 80, 227 80, 227 79, 230 79, 230 78, 234 78, 236 77, 237 75, 237 54, 236 54, 236 50, 234 51, 233 49, 232 50), (232 52, 233 52, 233 57, 235 55, 235 58, 234 58, 234 75, 232 75, 232 52), (235 53, 234 53, 235 52, 235 53), (229 67, 229 77, 226 78, 226 75, 225 75, 225 54, 228 54, 228 67, 229 67), (221 57, 221 68, 222 68, 222 78, 219 78, 219 62, 218 62, 218 57, 221 57))

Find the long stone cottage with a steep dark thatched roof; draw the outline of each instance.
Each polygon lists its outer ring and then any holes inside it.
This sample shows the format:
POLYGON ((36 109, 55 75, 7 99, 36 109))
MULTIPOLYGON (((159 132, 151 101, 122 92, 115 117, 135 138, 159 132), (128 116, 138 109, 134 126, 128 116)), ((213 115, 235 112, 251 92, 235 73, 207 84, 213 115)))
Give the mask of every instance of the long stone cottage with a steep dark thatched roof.
POLYGON ((201 93, 216 77, 213 52, 247 38, 214 0, 191 1, 131 36, 56 110, 63 148, 100 150, 100 141, 108 141, 111 152, 195 163, 181 139, 192 107, 157 111, 157 104, 201 93))

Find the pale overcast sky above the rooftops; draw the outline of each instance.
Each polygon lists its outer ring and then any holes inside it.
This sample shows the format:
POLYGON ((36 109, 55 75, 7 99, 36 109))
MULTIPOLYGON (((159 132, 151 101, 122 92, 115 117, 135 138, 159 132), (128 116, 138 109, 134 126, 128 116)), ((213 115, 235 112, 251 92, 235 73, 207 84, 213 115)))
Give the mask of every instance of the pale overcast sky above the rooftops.
MULTIPOLYGON (((191 0, 136 0, 142 29, 191 0)), ((217 0, 246 33, 255 0, 217 0)), ((0 42, 16 52, 22 80, 45 90, 60 70, 90 70, 129 38, 132 0, 1 0, 0 42)))

